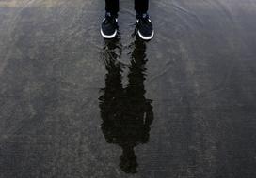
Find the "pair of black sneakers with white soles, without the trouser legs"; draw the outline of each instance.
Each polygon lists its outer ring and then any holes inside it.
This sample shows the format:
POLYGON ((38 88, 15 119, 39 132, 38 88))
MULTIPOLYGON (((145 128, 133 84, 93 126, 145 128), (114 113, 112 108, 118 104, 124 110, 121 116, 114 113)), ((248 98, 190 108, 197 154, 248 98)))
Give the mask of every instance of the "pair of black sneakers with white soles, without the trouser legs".
MULTIPOLYGON (((136 31, 137 35, 144 40, 150 40, 153 37, 152 22, 148 14, 136 15, 136 31)), ((102 23, 101 34, 104 38, 114 38, 118 33, 118 18, 105 13, 102 23)))

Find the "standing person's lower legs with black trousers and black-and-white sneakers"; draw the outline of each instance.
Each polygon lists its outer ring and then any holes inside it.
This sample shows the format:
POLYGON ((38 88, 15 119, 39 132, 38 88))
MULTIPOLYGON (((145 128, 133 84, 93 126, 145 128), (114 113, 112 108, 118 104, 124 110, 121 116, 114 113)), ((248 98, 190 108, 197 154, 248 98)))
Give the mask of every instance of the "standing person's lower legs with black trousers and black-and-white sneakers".
MULTIPOLYGON (((104 38, 113 38, 117 35, 119 6, 119 0, 105 0, 105 17, 101 28, 101 34, 104 38)), ((137 34, 145 40, 153 37, 148 8, 149 0, 135 0, 137 34)))

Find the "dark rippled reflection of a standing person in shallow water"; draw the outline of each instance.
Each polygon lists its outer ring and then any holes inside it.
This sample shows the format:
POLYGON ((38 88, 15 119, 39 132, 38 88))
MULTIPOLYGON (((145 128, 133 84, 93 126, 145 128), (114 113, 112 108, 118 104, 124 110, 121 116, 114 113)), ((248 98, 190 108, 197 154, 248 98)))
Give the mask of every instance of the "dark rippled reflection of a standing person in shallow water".
MULTIPOLYGON (((117 41, 116 41, 117 42, 117 41)), ((117 44, 117 43, 116 43, 117 44)), ((116 61, 115 42, 107 44, 105 56, 105 88, 100 96, 102 131, 108 143, 120 145, 120 168, 126 173, 136 173, 137 162, 134 148, 139 143, 149 141, 153 120, 152 101, 145 98, 146 44, 135 41, 131 54, 128 85, 123 87, 121 72, 123 67, 116 61)))

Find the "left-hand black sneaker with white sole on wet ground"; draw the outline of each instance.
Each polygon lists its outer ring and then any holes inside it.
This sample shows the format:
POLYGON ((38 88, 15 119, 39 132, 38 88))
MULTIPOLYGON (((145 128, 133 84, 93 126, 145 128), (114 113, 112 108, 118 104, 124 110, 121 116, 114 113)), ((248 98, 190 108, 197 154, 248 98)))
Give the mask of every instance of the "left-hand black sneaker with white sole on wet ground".
POLYGON ((118 19, 111 16, 110 13, 105 13, 104 21, 102 23, 101 34, 104 38, 116 37, 118 33, 118 19))

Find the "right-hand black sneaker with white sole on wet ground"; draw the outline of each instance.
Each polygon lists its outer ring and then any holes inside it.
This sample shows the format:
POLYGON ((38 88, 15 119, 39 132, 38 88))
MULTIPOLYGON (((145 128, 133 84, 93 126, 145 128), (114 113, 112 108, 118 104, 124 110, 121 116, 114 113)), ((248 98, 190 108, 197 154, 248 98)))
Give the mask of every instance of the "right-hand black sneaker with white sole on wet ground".
POLYGON ((139 37, 150 40, 153 37, 152 22, 148 14, 136 15, 136 28, 139 37))

